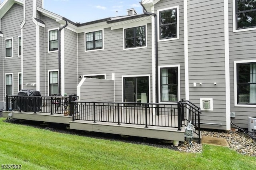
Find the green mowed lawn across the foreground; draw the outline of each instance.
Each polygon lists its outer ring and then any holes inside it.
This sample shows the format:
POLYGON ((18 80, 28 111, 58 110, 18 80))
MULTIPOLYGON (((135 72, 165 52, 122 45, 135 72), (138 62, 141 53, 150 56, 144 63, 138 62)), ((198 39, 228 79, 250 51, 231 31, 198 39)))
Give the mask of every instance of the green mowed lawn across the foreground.
POLYGON ((202 154, 62 134, 4 122, 0 118, 0 164, 22 169, 245 170, 256 158, 226 147, 203 146, 202 154))

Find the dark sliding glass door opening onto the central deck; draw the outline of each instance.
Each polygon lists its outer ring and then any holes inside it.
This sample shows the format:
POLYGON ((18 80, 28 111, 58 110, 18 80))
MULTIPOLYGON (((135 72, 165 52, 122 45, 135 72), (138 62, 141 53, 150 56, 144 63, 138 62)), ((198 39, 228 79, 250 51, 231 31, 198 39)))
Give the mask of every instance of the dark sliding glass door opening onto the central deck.
POLYGON ((124 77, 124 102, 149 102, 149 77, 124 77))

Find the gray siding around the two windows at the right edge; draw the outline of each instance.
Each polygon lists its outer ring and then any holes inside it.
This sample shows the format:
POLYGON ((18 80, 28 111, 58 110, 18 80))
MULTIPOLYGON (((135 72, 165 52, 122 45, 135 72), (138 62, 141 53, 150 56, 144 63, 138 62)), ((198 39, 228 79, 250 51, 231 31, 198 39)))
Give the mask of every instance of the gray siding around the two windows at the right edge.
MULTIPOLYGON (((234 61, 256 59, 256 30, 233 32, 232 0, 229 0, 230 111, 236 112, 233 122, 248 128, 248 116, 256 116, 255 107, 234 107, 234 61)), ((235 4, 234 4, 235 5, 235 4)))

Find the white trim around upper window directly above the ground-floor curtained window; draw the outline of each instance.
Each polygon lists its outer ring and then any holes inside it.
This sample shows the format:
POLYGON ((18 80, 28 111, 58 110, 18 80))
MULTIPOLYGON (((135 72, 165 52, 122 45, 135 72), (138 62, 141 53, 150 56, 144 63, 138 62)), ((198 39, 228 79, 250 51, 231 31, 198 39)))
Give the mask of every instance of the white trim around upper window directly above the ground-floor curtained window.
POLYGON ((165 42, 165 41, 172 41, 172 40, 179 40, 180 39, 180 19, 179 19, 179 6, 172 6, 170 8, 164 8, 164 9, 160 9, 160 10, 157 10, 157 39, 158 39, 158 42, 165 42), (165 10, 170 10, 170 9, 174 9, 176 8, 177 9, 177 38, 167 38, 167 39, 163 39, 163 40, 160 40, 160 25, 159 25, 159 17, 160 17, 160 12, 162 11, 165 11, 165 10))

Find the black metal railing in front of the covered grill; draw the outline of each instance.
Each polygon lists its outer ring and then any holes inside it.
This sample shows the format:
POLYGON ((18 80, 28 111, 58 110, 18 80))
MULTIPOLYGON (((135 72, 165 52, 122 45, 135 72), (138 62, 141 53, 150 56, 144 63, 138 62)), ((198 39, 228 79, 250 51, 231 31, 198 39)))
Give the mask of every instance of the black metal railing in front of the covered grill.
POLYGON ((72 116, 71 101, 78 96, 6 96, 6 111, 64 114, 72 116))

